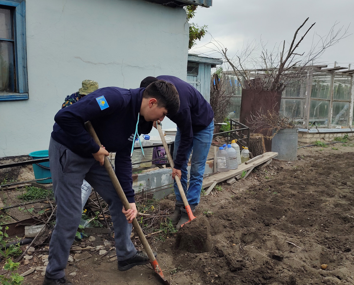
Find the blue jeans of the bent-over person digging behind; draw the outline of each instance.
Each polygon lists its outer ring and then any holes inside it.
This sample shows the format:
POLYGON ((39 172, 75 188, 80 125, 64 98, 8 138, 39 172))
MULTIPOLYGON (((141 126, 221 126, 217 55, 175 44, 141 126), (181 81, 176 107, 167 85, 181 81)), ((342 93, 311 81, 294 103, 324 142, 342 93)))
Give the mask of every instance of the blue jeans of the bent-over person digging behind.
MULTIPOLYGON (((200 192, 203 183, 203 174, 205 170, 205 162, 209 153, 210 145, 213 139, 214 132, 214 122, 212 121, 209 126, 204 130, 193 133, 193 142, 188 148, 187 160, 184 161, 181 167, 181 184, 184 193, 187 196, 189 205, 198 205, 200 200, 200 192), (192 152, 192 161, 190 165, 190 179, 189 187, 187 190, 187 166, 190 153, 192 152)), ((176 159, 177 149, 179 143, 181 142, 181 131, 177 128, 176 138, 175 138, 175 149, 173 150, 173 160, 176 159)), ((182 197, 179 194, 178 186, 174 182, 173 187, 175 189, 176 200, 182 201, 182 197)), ((183 203, 182 203, 183 204, 183 203)))

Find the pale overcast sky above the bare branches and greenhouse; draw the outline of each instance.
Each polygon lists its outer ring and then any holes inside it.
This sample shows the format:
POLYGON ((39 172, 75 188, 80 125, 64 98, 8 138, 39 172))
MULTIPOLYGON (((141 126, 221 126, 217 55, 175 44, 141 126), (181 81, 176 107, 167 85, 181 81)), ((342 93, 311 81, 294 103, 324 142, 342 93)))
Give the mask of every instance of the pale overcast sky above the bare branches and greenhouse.
MULTIPOLYGON (((274 45, 279 46, 283 40, 290 44, 296 29, 307 17, 309 20, 303 31, 300 30, 300 35, 312 23, 316 24, 299 46, 299 53, 309 50, 314 33, 326 36, 335 22, 338 23, 336 30, 349 25, 348 34, 352 35, 329 47, 318 61, 329 67, 333 67, 335 61, 337 66, 342 67, 348 67, 351 63, 351 69, 354 69, 354 23, 350 23, 353 14, 353 0, 213 0, 210 8, 198 7, 196 16, 190 22, 199 26, 207 25, 207 31, 228 48, 231 57, 253 40, 258 44, 261 39, 268 42, 268 49, 272 49, 274 45)), ((314 37, 319 39, 316 35, 314 37)), ((189 52, 221 58, 218 54, 210 53, 207 48, 212 47, 207 44, 210 40, 211 36, 207 34, 189 52)))

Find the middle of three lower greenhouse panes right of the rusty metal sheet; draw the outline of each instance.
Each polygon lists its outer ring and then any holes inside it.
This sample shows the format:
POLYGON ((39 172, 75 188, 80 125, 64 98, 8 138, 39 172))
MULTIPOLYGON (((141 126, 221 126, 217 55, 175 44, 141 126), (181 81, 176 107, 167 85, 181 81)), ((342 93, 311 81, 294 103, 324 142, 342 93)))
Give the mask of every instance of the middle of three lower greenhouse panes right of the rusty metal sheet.
POLYGON ((309 126, 328 127, 330 101, 311 100, 309 126))

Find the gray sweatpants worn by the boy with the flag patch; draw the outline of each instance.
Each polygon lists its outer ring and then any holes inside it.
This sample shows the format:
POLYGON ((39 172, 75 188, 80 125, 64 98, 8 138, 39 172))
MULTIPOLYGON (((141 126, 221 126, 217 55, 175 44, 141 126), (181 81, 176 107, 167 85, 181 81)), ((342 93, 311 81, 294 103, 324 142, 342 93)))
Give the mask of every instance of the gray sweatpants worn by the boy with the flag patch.
POLYGON ((81 185, 84 179, 109 205, 118 260, 135 255, 136 249, 130 240, 132 225, 122 213, 122 203, 104 166, 100 166, 93 157, 82 158, 53 138, 49 144, 49 161, 57 216, 49 247, 47 277, 59 279, 65 275, 70 247, 81 220, 81 185))

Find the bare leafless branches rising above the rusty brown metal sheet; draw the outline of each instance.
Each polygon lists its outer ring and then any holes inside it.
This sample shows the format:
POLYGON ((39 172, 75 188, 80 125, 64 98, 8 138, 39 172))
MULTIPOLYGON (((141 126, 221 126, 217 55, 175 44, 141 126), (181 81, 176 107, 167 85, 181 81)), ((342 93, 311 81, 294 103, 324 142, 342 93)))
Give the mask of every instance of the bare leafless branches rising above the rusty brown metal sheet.
POLYGON ((348 28, 343 26, 337 28, 336 22, 326 36, 319 36, 317 41, 313 37, 312 45, 308 52, 299 52, 299 46, 315 23, 310 25, 299 38, 299 32, 304 28, 309 18, 307 18, 295 31, 292 41, 286 47, 284 40, 281 45, 267 49, 267 43, 261 42, 261 54, 254 56, 258 45, 255 41, 247 43, 237 55, 230 58, 227 54, 228 49, 221 42, 212 38, 209 47, 212 51, 221 53, 224 60, 230 65, 234 75, 240 82, 242 88, 258 89, 267 91, 283 91, 289 84, 301 80, 307 74, 309 65, 318 60, 324 51, 337 44, 341 39, 346 38, 348 28), (249 66, 249 63, 253 67, 249 66), (257 79, 257 80, 255 80, 257 79))

